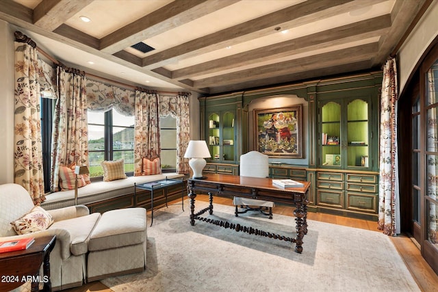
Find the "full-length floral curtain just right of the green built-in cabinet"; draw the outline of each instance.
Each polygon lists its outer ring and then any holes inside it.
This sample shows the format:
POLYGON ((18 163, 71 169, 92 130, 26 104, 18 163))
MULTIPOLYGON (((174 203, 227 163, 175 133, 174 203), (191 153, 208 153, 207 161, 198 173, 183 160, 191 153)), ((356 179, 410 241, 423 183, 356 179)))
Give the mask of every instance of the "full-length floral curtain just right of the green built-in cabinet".
POLYGON ((396 59, 391 58, 383 68, 378 189, 378 229, 391 236, 400 233, 397 101, 396 59))

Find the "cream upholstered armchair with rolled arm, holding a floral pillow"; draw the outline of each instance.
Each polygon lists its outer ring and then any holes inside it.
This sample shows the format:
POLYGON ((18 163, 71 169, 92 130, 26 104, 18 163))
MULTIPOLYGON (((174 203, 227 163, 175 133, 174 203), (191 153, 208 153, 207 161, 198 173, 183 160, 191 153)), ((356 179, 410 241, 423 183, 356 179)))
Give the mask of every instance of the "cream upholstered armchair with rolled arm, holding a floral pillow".
POLYGON ((11 222, 20 222, 23 216, 34 215, 35 213, 31 213, 31 211, 35 212, 34 207, 29 193, 21 185, 14 183, 0 185, 0 241, 56 235, 55 248, 50 254, 53 290, 80 286, 86 275, 86 254, 90 233, 101 214, 90 214, 88 208, 83 205, 51 211, 38 207, 36 208, 38 216, 49 217, 53 223, 49 222, 50 226, 46 229, 34 228, 32 233, 18 235, 16 227, 14 228, 11 222), (49 215, 45 216, 44 212, 49 215))

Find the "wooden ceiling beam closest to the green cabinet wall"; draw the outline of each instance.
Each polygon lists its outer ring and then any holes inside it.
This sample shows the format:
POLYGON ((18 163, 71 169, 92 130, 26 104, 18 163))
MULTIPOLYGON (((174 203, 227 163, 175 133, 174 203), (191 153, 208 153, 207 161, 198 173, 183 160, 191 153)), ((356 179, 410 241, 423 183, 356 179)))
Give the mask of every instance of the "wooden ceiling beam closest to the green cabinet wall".
POLYGON ((305 72, 307 70, 315 70, 346 64, 352 62, 363 61, 364 59, 372 58, 378 51, 378 42, 363 44, 361 46, 331 51, 319 55, 311 55, 300 59, 292 59, 286 62, 259 66, 247 70, 240 70, 226 75, 218 75, 205 79, 195 80, 195 88, 211 88, 212 86, 227 85, 252 79, 262 79, 268 77, 281 76, 296 72, 305 72))

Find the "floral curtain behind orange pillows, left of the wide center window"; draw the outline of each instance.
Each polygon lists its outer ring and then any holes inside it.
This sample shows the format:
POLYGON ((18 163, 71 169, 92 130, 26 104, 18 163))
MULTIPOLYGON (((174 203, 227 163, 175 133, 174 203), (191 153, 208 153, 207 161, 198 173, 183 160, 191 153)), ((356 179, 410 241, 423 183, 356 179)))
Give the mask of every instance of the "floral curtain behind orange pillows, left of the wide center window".
MULTIPOLYGON (((52 191, 59 191, 60 165, 89 164, 86 77, 78 70, 59 66, 57 89, 52 133, 52 191)), ((83 178, 90 183, 88 175, 83 178)))

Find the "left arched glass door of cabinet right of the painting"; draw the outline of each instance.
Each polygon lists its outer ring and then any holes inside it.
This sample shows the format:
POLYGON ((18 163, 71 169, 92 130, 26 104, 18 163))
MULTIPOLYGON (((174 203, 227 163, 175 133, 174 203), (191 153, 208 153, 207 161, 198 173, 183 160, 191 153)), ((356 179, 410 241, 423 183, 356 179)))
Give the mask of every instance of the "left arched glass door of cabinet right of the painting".
POLYGON ((341 166, 341 105, 333 101, 321 108, 322 165, 341 166))

